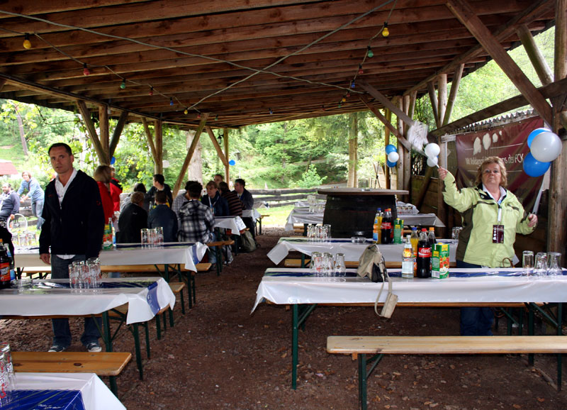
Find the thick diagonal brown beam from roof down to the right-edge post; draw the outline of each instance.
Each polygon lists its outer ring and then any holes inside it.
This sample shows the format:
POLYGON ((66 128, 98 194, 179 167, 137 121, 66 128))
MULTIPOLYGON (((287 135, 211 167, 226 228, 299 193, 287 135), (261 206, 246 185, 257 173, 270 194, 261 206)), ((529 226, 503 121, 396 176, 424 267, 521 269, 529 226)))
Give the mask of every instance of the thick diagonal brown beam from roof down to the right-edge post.
POLYGON ((544 96, 541 95, 534 87, 534 84, 529 82, 526 75, 516 65, 512 57, 507 54, 502 45, 490 33, 488 28, 483 24, 476 13, 471 9, 466 0, 447 0, 447 7, 459 19, 468 31, 470 31, 478 43, 481 43, 483 48, 493 57, 496 64, 502 68, 503 72, 510 78, 517 89, 526 97, 529 104, 534 107, 534 110, 539 113, 539 116, 546 121, 551 121, 551 106, 547 104, 544 96))

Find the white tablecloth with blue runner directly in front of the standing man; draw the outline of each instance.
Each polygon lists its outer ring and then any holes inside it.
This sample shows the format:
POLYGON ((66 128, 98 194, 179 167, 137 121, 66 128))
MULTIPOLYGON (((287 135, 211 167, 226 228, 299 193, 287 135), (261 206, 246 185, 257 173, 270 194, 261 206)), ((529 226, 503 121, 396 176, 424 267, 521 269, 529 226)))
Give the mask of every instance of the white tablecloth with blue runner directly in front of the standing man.
POLYGON ((34 279, 39 284, 33 289, 18 292, 18 289, 0 290, 0 314, 16 316, 88 315, 101 314, 117 306, 128 304, 126 323, 149 321, 155 316, 147 301, 147 286, 157 282, 159 309, 175 305, 175 295, 162 277, 106 278, 103 282, 129 287, 110 287, 87 290, 79 293, 69 287, 68 279, 34 279), (132 286, 131 284, 140 284, 132 286))

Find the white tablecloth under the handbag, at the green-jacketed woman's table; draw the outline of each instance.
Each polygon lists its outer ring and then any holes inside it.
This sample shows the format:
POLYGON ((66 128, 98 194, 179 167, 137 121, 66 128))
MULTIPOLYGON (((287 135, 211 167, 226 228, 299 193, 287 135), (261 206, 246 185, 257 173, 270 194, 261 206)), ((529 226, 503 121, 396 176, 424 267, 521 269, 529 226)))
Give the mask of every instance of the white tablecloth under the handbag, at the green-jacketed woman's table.
MULTIPOLYGON (((456 302, 563 302, 567 299, 567 276, 531 279, 521 269, 454 269, 447 279, 402 279, 392 277, 392 292, 398 303, 456 302), (463 275, 463 276, 459 276, 463 275)), ((374 303, 381 283, 359 277, 313 277, 306 269, 270 268, 256 292, 258 304, 356 304, 374 303)), ((356 270, 347 270, 356 275, 356 270)), ((388 270, 399 275, 400 270, 388 270)), ((565 275, 567 270, 563 270, 565 275)), ((347 274, 348 275, 348 274, 347 274)), ((380 301, 388 292, 384 287, 380 301)))

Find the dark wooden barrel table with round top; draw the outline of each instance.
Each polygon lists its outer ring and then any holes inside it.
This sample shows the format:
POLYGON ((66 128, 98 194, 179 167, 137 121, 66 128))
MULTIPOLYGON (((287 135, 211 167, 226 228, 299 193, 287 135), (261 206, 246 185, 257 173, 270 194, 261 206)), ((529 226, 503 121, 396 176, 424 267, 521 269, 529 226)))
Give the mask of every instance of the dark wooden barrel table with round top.
POLYGON ((376 208, 392 209, 397 217, 395 195, 408 195, 408 191, 369 188, 319 189, 318 194, 327 195, 323 223, 331 226, 333 238, 364 236, 372 238, 376 208))

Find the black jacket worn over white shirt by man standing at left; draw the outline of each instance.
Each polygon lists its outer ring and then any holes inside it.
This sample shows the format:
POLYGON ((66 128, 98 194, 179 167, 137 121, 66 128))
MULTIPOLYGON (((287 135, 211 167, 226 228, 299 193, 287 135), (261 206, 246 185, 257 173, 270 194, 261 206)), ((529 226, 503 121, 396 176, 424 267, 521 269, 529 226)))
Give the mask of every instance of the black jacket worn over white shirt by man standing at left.
POLYGON ((55 179, 45 187, 40 253, 97 257, 102 247, 104 212, 95 180, 82 171, 72 180, 61 206, 55 179))

